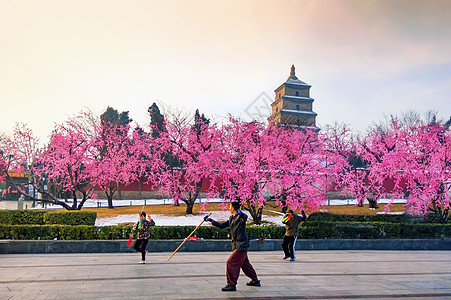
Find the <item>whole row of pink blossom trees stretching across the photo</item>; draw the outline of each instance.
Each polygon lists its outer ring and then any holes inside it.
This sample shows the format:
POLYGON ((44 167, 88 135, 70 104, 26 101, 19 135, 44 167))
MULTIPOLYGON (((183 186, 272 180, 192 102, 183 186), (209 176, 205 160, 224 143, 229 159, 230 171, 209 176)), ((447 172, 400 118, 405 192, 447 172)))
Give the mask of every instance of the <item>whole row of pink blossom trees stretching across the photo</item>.
POLYGON ((97 198, 95 187, 113 208, 119 185, 144 179, 174 204, 184 202, 187 214, 209 183, 208 198, 240 201, 257 224, 268 200, 318 211, 333 184, 358 205, 367 199, 375 208, 383 197, 405 198, 411 214, 448 218, 451 119, 406 113, 357 134, 346 124, 318 131, 233 116, 219 124, 198 110, 194 117, 165 116, 155 103, 148 113, 147 128, 132 128, 128 112, 81 112, 56 125, 44 146, 17 124, 11 137, 0 139, 0 180, 30 199, 38 200, 28 193, 32 185, 43 196, 39 201, 80 210, 97 198), (24 173, 28 183, 12 173, 24 173), (387 180, 394 183, 390 193, 387 180))

